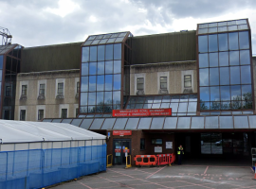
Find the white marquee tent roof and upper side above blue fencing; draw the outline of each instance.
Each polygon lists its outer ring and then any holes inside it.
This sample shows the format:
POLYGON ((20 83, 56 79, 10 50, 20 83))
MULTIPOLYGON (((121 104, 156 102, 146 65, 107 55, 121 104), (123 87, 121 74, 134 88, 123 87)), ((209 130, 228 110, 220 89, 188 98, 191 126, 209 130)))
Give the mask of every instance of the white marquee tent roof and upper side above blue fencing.
POLYGON ((98 146, 105 139, 70 124, 0 120, 0 151, 98 146))

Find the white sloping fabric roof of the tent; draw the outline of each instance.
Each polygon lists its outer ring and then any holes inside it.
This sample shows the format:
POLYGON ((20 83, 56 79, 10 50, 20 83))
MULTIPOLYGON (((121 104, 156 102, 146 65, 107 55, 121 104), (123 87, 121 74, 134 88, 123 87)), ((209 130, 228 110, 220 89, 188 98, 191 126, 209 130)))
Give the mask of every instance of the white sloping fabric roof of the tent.
POLYGON ((2 143, 105 139, 104 135, 70 124, 0 120, 2 143))

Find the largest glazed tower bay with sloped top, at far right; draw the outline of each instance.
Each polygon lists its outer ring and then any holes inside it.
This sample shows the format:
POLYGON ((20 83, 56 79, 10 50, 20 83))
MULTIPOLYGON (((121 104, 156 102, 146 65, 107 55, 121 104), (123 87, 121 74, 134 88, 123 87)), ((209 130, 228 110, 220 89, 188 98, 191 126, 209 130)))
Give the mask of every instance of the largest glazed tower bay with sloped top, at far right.
POLYGON ((198 34, 200 111, 251 110, 247 20, 199 25, 198 34))

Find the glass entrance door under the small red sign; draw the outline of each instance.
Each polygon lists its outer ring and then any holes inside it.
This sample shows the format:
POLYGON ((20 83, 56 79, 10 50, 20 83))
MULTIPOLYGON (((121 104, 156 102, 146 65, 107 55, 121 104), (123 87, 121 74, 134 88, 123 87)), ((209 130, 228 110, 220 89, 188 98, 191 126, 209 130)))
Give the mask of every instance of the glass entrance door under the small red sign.
POLYGON ((114 164, 126 163, 125 152, 123 149, 129 149, 128 155, 131 155, 131 140, 129 139, 115 139, 113 146, 114 164))

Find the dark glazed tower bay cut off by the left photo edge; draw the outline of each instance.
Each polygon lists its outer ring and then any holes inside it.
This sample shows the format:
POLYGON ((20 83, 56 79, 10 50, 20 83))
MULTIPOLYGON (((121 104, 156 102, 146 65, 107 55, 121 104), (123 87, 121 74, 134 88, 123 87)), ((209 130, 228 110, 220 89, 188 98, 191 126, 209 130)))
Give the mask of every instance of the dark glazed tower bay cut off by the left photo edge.
MULTIPOLYGON (((1 46, 0 48, 3 48, 1 46)), ((21 45, 5 46, 5 55, 0 56, 1 118, 13 120, 16 94, 16 77, 20 72, 21 45)))

